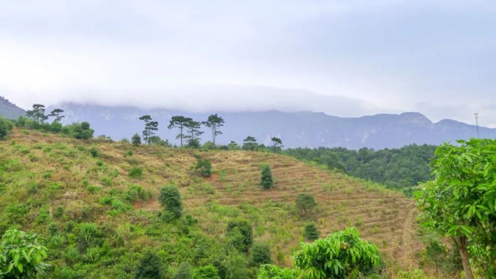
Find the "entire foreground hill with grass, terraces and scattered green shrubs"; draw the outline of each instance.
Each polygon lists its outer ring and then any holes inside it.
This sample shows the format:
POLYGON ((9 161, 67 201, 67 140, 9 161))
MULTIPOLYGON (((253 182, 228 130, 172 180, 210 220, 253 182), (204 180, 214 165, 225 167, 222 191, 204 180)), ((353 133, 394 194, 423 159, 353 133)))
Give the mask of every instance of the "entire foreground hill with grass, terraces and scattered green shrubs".
POLYGON ((43 235, 42 278, 460 275, 452 247, 418 228, 414 202, 382 185, 251 139, 245 151, 174 149, 66 129, 0 141, 0 232, 43 235), (360 264, 349 239, 366 247, 360 264), (324 246, 348 248, 315 254, 324 246))

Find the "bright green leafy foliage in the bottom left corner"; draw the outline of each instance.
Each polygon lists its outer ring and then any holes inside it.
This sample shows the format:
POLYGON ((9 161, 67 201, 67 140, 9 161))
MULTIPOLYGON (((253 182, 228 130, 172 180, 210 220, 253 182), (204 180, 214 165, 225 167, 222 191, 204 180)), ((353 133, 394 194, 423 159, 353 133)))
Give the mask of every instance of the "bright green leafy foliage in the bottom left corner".
POLYGON ((7 230, 0 242, 0 278, 37 278, 48 267, 47 251, 38 235, 7 230))

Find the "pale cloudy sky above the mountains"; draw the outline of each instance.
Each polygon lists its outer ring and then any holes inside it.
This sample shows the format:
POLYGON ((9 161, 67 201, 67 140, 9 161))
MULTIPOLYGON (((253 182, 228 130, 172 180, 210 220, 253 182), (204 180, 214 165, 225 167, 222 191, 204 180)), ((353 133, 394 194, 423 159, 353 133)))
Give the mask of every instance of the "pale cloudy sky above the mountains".
POLYGON ((494 0, 0 0, 0 96, 496 127, 494 0))

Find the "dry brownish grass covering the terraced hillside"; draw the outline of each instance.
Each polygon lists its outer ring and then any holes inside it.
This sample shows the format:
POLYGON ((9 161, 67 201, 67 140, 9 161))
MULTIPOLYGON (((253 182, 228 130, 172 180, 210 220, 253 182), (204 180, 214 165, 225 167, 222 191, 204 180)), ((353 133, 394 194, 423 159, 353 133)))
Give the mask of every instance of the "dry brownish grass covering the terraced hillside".
MULTIPOLYGON (((365 239, 377 244, 380 250, 399 264, 407 267, 414 263, 413 253, 421 243, 415 238, 415 210, 412 200, 402 194, 369 185, 359 179, 309 166, 295 159, 261 152, 209 151, 168 149, 157 146, 132 147, 130 144, 80 141, 62 138, 52 134, 31 132, 29 135, 14 130, 9 140, 30 147, 38 158, 31 162, 29 157, 20 156, 21 164, 31 169, 51 171, 52 181, 66 187, 60 196, 50 197, 52 210, 60 204, 68 205, 77 215, 85 201, 94 197, 81 189, 83 174, 91 172, 97 160, 118 171, 113 179, 113 187, 125 187, 132 183, 158 193, 159 188, 175 182, 183 194, 186 214, 200 220, 202 229, 214 236, 222 237, 225 224, 230 218, 244 216, 253 224, 257 240, 269 242, 273 247, 274 259, 283 252, 284 263, 290 263, 290 255, 302 241, 302 231, 309 220, 316 223, 321 235, 357 226, 365 239), (63 145, 75 148, 83 145, 88 148, 98 146, 100 159, 91 162, 77 159, 68 169, 50 157, 50 153, 35 150, 36 144, 63 145), (125 156, 129 150, 132 156, 125 156), (212 177, 203 179, 191 174, 190 167, 195 163, 195 154, 212 162, 215 172, 212 177), (144 169, 141 179, 128 177, 133 167, 129 162, 137 161, 144 169), (263 190, 259 183, 259 165, 271 166, 274 187, 263 190), (317 209, 309 216, 301 216, 294 209, 298 194, 312 194, 317 209)), ((2 145, 7 145, 8 142, 2 145)), ((52 150, 54 153, 62 152, 52 150)), ((35 181, 42 181, 42 173, 35 174, 35 181)), ((91 176, 91 184, 101 185, 105 178, 98 173, 91 176)), ((159 209, 156 199, 135 203, 136 209, 154 211, 159 209)), ((95 209, 98 210, 98 209, 95 209)), ((78 216, 74 216, 77 219, 78 216)), ((124 232, 123 232, 124 233, 124 232)))

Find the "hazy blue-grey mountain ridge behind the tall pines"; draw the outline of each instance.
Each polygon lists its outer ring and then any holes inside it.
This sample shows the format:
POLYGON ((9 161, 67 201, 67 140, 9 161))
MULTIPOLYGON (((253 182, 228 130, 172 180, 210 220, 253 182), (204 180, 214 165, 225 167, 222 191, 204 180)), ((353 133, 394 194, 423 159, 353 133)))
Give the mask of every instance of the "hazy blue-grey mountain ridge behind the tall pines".
MULTIPOLYGON (((59 106, 65 112, 66 123, 88 121, 95 134, 105 134, 116 140, 130 138, 141 133, 142 121, 138 117, 150 114, 159 122, 158 135, 172 143, 176 140, 176 129, 169 130, 170 118, 185 115, 197 121, 206 120, 211 113, 189 113, 168 109, 143 110, 135 107, 106 107, 65 103, 59 106)), ((50 111, 53 108, 48 108, 50 111)), ((419 112, 401 114, 376 114, 362 117, 337 117, 323 112, 214 112, 225 120, 218 136, 219 144, 254 136, 258 143, 270 145, 270 138, 280 137, 285 147, 362 147, 383 149, 397 148, 408 144, 441 144, 446 141, 476 137, 476 126, 455 120, 444 119, 433 123, 419 112)), ((206 129, 203 141, 210 139, 206 129)), ((496 138, 496 129, 479 127, 480 136, 496 138)))

